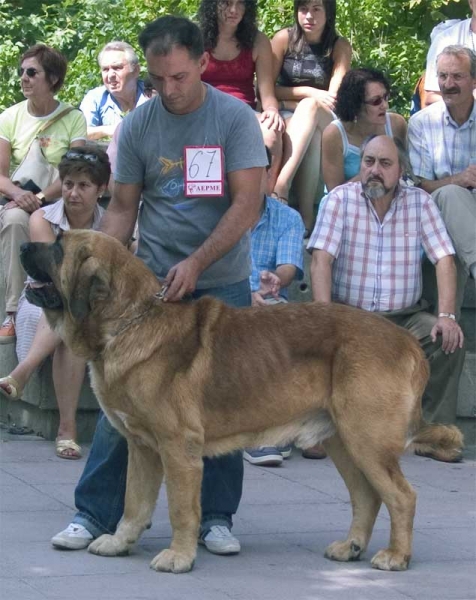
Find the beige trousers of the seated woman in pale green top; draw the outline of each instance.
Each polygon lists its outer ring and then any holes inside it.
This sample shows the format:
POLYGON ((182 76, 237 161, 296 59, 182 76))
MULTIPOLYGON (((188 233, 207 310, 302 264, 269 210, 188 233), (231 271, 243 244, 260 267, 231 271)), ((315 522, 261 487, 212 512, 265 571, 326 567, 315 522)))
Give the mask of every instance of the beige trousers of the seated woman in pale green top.
POLYGON ((5 269, 5 308, 17 312, 26 273, 20 262, 20 246, 30 239, 29 213, 21 208, 0 209, 0 251, 5 269))

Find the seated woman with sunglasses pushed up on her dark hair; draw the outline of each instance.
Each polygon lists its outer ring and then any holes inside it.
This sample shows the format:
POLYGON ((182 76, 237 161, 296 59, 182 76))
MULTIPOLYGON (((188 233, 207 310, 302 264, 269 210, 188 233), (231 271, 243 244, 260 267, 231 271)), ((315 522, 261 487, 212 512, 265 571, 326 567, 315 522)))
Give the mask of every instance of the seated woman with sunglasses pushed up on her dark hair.
MULTIPOLYGON (((111 174, 109 159, 97 146, 69 150, 59 163, 62 198, 35 211, 30 218, 30 238, 53 242, 61 231, 97 229, 104 213, 98 198, 104 193, 111 174)), ((29 285, 27 283, 27 285, 29 285)), ((31 285, 34 285, 32 283, 31 285)), ((76 409, 84 380, 86 363, 75 356, 53 332, 41 308, 21 294, 17 316, 17 367, 0 378, 0 394, 18 400, 35 370, 53 355, 53 384, 59 409, 56 454, 78 459, 76 409)))

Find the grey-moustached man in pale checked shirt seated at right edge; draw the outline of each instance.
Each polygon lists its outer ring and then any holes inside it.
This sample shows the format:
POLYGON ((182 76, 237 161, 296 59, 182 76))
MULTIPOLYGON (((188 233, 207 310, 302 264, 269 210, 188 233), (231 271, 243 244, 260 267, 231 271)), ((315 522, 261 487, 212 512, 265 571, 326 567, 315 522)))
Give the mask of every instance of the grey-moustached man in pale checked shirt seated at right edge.
POLYGON ((447 46, 438 56, 442 102, 410 119, 410 162, 433 196, 456 250, 456 311, 468 275, 476 279, 476 53, 447 46))

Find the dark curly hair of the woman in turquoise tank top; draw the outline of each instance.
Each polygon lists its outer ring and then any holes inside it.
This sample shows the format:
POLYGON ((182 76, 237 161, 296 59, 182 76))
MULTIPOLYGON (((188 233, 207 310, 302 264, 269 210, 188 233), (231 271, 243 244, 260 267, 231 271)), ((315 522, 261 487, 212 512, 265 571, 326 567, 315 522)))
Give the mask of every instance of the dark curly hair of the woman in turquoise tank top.
POLYGON ((376 69, 351 69, 344 75, 337 90, 334 112, 341 121, 353 121, 365 101, 368 83, 381 83, 390 93, 390 83, 382 71, 376 69))

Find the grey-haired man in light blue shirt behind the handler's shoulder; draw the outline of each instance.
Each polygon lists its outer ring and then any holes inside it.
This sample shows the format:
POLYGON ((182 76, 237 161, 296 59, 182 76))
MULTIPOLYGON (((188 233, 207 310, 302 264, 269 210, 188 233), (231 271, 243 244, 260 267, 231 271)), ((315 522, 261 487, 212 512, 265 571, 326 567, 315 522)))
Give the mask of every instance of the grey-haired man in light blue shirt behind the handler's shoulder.
POLYGON ((90 90, 80 109, 86 117, 88 138, 110 138, 124 116, 148 100, 139 80, 139 59, 126 42, 110 42, 98 56, 104 85, 90 90))

